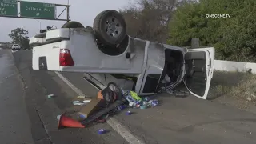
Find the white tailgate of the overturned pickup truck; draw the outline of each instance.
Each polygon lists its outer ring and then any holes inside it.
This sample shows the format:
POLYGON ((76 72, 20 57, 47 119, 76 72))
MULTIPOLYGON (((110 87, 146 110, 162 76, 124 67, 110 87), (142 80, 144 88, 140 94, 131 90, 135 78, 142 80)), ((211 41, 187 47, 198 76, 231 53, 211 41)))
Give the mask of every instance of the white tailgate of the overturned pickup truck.
POLYGON ((33 48, 33 70, 59 70, 59 51, 61 42, 54 42, 33 48))

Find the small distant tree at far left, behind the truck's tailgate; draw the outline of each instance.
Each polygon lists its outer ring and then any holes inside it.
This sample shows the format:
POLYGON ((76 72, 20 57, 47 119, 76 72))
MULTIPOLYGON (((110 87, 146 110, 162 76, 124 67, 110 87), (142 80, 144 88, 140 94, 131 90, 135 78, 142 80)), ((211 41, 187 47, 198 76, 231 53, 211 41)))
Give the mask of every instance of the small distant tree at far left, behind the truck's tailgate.
POLYGON ((16 28, 11 30, 9 37, 12 39, 12 43, 19 44, 22 46, 22 49, 29 49, 29 37, 27 36, 29 32, 23 28, 16 28))

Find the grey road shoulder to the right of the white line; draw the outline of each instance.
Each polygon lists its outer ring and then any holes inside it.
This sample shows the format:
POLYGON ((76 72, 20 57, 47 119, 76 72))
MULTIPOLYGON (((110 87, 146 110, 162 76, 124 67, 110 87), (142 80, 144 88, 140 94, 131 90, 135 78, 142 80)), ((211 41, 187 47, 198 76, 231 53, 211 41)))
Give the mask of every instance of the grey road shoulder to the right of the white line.
MULTIPOLYGON (((97 92, 88 82, 79 80, 82 74, 62 74, 86 94, 97 92)), ((158 94, 157 98, 161 102, 158 107, 131 109, 134 114, 130 117, 122 111, 114 118, 146 144, 253 144, 256 140, 255 114, 191 95, 174 98, 170 94, 158 94)))

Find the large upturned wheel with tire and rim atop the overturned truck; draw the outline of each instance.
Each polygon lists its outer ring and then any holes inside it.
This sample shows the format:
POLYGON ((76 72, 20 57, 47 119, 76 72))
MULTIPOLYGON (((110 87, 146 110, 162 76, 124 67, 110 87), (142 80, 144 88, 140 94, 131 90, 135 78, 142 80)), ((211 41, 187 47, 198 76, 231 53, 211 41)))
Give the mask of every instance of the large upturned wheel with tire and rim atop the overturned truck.
POLYGON ((104 45, 114 46, 126 38, 126 22, 116 10, 105 10, 94 19, 94 34, 104 45))

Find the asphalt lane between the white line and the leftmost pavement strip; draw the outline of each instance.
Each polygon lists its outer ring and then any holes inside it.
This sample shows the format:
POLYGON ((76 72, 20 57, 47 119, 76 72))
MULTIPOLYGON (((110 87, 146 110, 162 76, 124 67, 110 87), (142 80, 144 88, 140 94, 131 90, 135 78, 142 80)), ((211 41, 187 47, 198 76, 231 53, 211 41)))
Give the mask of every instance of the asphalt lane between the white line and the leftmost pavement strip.
POLYGON ((106 123, 86 127, 84 129, 57 129, 57 116, 66 110, 72 112, 72 98, 78 96, 74 90, 66 86, 54 72, 32 70, 31 51, 14 53, 15 64, 26 87, 26 106, 30 115, 30 122, 35 143, 48 140, 55 144, 127 144, 116 131, 106 123), (47 94, 54 94, 56 98, 48 99, 47 94), (39 118, 34 117, 34 113, 39 118), (40 126, 38 126, 40 123, 40 126), (34 129, 33 129, 34 127, 34 129), (98 129, 110 130, 109 133, 98 135, 98 129))

